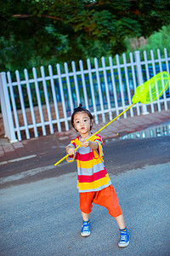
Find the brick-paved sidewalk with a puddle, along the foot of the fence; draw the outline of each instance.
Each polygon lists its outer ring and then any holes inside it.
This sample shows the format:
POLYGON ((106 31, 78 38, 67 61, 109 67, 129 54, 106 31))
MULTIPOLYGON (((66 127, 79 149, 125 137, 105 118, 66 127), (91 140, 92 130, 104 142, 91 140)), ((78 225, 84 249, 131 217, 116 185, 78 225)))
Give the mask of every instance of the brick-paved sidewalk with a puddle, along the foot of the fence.
MULTIPOLYGON (((148 127, 161 125, 164 123, 170 124, 170 110, 150 113, 147 115, 129 117, 127 119, 116 119, 111 125, 108 125, 99 135, 103 140, 114 137, 122 137, 126 134, 142 131, 148 127)), ((93 126, 92 131, 98 131, 105 124, 93 126)), ((48 153, 59 146, 65 147, 71 141, 71 138, 77 136, 77 132, 62 131, 55 132, 54 135, 46 137, 31 138, 17 143, 9 143, 8 139, 0 138, 0 166, 3 163, 13 162, 16 159, 25 160, 31 157, 48 153)))

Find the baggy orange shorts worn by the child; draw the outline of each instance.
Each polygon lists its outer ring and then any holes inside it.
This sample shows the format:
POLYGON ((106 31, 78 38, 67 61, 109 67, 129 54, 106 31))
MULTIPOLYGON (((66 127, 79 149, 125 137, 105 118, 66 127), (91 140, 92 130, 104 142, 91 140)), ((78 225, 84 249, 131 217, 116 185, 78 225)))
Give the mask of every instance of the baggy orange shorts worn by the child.
POLYGON ((107 208, 109 214, 116 218, 122 215, 122 209, 112 184, 102 190, 94 192, 79 193, 81 212, 92 212, 92 203, 107 208))

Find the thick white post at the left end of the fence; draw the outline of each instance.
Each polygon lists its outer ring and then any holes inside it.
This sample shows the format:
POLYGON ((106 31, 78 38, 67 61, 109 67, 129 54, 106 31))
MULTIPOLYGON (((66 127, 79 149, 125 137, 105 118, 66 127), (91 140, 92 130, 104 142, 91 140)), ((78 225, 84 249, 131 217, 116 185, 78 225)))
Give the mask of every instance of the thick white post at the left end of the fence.
POLYGON ((14 122, 12 116, 12 110, 10 106, 6 73, 0 73, 0 100, 3 114, 3 125, 5 130, 5 136, 8 137, 10 143, 16 143, 18 140, 15 137, 14 122))

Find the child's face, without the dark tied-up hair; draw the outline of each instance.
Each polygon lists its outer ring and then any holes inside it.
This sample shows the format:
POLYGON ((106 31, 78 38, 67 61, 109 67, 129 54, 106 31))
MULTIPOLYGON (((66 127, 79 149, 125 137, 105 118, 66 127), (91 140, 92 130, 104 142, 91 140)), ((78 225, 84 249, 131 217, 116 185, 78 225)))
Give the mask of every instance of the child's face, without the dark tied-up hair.
POLYGON ((74 116, 74 127, 80 135, 88 136, 92 120, 89 118, 88 113, 78 112, 74 116))

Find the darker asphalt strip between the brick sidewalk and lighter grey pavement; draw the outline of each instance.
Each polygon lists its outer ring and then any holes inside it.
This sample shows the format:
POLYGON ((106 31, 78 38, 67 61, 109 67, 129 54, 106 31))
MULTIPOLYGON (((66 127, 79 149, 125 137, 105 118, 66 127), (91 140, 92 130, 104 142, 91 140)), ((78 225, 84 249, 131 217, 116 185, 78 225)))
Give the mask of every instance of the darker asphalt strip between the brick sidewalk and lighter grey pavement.
MULTIPOLYGON (((54 166, 55 162, 65 156, 65 145, 66 142, 52 151, 38 154, 36 158, 0 166, 1 188, 76 172, 76 162, 67 163, 64 160, 59 166, 54 166)), ((103 147, 106 169, 113 175, 146 165, 170 162, 170 136, 117 139, 104 143, 103 147)))

